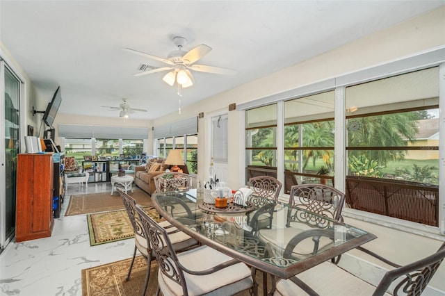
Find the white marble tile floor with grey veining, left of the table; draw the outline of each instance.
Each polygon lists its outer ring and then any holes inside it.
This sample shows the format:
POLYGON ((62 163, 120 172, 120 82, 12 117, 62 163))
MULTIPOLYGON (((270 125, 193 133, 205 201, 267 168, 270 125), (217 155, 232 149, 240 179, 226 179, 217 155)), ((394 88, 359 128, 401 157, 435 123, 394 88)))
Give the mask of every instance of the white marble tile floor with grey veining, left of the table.
POLYGON ((11 242, 0 254, 0 295, 82 295, 81 270, 133 256, 134 240, 90 247, 86 215, 64 216, 71 195, 111 192, 111 183, 68 185, 51 237, 11 242))

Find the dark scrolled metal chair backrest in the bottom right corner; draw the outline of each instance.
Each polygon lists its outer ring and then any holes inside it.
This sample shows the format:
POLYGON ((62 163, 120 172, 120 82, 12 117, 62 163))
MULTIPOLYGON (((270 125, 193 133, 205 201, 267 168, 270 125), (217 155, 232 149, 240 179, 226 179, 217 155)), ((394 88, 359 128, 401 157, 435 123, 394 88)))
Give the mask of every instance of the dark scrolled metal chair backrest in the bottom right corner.
POLYGON ((445 242, 435 254, 408 265, 389 270, 382 278, 373 295, 383 295, 396 279, 405 277, 393 290, 393 295, 421 295, 430 282, 432 276, 439 269, 439 265, 445 258, 445 242), (400 294, 398 292, 401 292, 400 294))

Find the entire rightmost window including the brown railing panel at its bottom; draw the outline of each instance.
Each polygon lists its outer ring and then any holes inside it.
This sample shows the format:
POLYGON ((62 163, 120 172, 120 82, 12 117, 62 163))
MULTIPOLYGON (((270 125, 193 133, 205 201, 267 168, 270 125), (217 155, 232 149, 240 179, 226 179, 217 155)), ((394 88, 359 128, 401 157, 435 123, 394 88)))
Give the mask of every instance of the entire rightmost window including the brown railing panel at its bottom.
POLYGON ((346 202, 438 226, 439 69, 346 88, 346 202))

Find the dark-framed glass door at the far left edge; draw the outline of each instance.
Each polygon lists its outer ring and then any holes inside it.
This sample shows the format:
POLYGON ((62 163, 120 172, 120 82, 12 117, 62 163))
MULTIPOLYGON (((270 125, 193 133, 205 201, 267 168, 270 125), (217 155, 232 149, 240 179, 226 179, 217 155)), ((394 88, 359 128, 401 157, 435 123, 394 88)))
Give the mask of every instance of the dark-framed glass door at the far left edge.
POLYGON ((4 176, 5 188, 1 192, 0 203, 0 247, 3 249, 15 234, 15 196, 17 184, 17 153, 20 145, 19 131, 19 103, 20 103, 20 82, 13 72, 4 67, 4 108, 1 120, 4 121, 4 144, 5 155, 2 163, 2 176, 4 176))

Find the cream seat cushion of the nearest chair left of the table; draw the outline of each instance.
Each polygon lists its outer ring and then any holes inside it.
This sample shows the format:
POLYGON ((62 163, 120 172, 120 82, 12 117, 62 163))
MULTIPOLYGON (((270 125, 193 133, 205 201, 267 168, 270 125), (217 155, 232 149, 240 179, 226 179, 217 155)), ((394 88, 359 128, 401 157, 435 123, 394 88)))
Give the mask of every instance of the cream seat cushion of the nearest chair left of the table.
MULTIPOLYGON (((177 254, 179 262, 189 270, 207 270, 231 257, 202 246, 177 254), (205 258, 205 260, 203 260, 205 258)), ((250 268, 244 263, 236 263, 208 275, 193 275, 184 272, 188 295, 234 295, 252 286, 250 268)), ((163 295, 183 295, 182 288, 159 270, 159 287, 163 295)))

